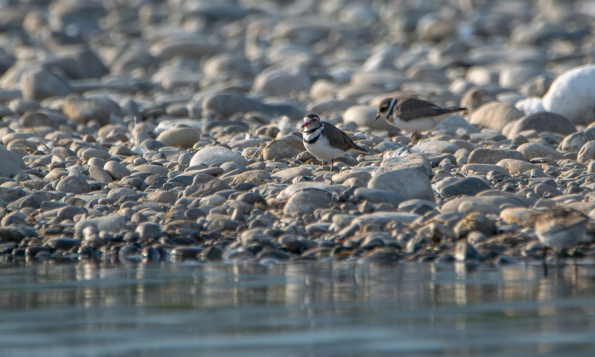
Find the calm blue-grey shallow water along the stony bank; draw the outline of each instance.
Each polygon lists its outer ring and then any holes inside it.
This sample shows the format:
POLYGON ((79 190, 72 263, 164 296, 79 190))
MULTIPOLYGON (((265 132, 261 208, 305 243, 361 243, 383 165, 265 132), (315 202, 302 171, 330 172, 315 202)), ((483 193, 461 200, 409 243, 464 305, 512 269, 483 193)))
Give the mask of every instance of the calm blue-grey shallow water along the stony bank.
POLYGON ((595 267, 0 267, 0 356, 593 356, 595 267))

